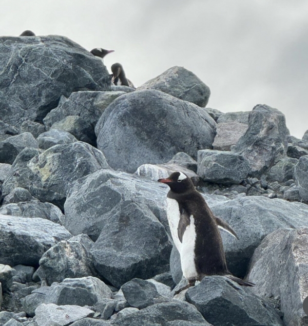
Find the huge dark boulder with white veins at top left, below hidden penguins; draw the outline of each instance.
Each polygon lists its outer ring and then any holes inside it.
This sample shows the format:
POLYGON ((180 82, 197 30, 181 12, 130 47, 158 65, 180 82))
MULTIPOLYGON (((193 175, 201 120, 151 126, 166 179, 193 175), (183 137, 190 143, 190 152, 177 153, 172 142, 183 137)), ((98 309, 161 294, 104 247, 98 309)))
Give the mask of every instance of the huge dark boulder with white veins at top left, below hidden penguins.
POLYGON ((63 36, 0 39, 1 119, 12 126, 41 122, 61 95, 78 90, 110 90, 101 60, 63 36))

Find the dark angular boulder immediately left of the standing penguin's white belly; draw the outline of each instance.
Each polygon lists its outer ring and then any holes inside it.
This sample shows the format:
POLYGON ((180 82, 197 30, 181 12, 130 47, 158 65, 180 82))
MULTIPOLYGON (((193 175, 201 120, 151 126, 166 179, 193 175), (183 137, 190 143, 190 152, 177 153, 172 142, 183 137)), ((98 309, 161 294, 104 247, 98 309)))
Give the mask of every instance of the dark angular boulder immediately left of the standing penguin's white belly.
POLYGON ((91 254, 99 275, 115 287, 169 269, 169 236, 147 206, 124 203, 103 225, 91 254))

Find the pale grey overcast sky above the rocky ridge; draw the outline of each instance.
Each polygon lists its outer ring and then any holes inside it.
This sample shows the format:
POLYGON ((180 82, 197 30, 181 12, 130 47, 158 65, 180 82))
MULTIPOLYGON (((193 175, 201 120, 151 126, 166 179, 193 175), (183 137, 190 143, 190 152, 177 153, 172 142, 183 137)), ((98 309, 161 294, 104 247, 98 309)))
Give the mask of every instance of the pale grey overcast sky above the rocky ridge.
POLYGON ((210 87, 208 107, 282 111, 308 129, 306 0, 1 0, 2 35, 59 34, 87 50, 112 49, 135 86, 172 66, 210 87))

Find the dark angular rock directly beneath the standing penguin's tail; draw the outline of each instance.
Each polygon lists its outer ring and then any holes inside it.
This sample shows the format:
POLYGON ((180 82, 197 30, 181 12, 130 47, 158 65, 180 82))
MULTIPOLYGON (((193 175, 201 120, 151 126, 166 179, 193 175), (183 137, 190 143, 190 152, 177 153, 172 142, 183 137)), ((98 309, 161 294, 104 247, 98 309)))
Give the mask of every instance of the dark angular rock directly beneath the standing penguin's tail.
POLYGON ((271 305, 223 276, 204 277, 200 284, 188 289, 185 297, 214 325, 283 326, 271 305))

